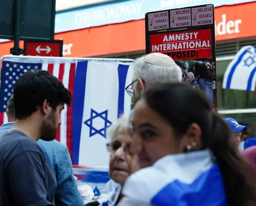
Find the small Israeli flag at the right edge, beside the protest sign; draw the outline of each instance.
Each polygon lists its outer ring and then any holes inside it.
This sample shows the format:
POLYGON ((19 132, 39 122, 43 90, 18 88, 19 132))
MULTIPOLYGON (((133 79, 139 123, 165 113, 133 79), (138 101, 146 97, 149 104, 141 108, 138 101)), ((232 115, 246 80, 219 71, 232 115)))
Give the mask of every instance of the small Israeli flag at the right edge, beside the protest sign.
POLYGON ((256 48, 244 46, 224 73, 223 89, 254 91, 256 85, 256 48))

